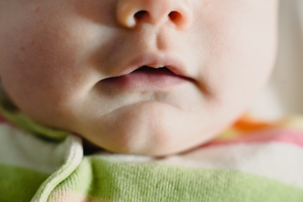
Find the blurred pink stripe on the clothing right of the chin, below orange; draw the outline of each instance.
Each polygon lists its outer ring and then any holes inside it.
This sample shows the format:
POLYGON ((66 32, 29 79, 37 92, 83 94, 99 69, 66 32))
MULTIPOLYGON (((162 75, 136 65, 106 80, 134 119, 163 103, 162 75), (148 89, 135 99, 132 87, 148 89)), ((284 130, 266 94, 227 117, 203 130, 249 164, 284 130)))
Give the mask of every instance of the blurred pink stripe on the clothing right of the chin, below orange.
POLYGON ((249 133, 245 136, 225 140, 214 140, 210 143, 201 145, 201 147, 224 144, 251 144, 266 142, 294 144, 303 147, 303 131, 290 129, 262 130, 254 133, 249 133))

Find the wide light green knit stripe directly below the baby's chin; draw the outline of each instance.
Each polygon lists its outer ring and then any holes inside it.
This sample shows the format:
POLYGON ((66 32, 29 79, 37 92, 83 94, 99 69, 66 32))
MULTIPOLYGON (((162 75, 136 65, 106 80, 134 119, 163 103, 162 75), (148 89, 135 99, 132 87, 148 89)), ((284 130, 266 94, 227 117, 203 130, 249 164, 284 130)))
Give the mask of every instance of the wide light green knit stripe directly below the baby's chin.
POLYGON ((119 202, 302 202, 303 189, 265 177, 228 170, 82 161, 58 188, 92 199, 119 202))

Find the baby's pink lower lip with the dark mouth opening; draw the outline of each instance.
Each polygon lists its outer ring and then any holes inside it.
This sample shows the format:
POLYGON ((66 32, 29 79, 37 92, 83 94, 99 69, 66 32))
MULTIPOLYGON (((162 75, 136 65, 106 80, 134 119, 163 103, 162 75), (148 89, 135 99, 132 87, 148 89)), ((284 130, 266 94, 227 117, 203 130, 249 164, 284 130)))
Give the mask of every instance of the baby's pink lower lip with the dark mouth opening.
POLYGON ((167 70, 135 71, 122 76, 111 77, 100 81, 107 89, 116 90, 145 90, 171 88, 188 81, 167 70))

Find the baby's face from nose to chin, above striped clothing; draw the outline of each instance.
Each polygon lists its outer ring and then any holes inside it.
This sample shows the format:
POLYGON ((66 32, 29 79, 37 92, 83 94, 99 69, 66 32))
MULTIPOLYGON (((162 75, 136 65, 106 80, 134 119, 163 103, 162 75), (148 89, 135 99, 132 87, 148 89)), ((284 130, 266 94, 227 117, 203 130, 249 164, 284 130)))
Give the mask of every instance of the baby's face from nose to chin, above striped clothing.
POLYGON ((0 0, 1 82, 33 119, 108 150, 181 152, 264 84, 276 13, 276 0, 0 0))

